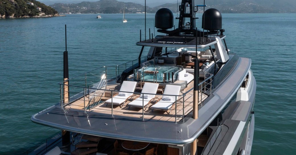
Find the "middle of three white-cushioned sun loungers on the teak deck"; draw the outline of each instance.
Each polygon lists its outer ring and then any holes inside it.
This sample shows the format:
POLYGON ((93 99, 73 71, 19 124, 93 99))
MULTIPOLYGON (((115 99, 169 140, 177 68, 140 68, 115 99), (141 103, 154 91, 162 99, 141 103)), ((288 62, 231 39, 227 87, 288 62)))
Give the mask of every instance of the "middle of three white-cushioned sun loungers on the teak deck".
POLYGON ((151 95, 151 94, 156 94, 158 85, 159 84, 157 83, 145 83, 142 89, 142 93, 149 93, 149 94, 141 94, 139 98, 131 101, 128 104, 128 106, 136 106, 136 107, 146 106, 144 109, 145 111, 151 101, 153 101, 154 99, 158 99, 158 98, 155 98, 155 95, 151 95))

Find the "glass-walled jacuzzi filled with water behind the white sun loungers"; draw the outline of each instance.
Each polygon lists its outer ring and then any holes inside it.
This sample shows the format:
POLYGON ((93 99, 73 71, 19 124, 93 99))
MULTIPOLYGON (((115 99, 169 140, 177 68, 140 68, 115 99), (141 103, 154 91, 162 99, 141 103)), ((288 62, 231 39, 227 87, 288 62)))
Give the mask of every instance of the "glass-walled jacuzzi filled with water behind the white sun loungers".
POLYGON ((182 66, 146 65, 133 70, 134 80, 158 83, 173 83, 178 80, 182 66))

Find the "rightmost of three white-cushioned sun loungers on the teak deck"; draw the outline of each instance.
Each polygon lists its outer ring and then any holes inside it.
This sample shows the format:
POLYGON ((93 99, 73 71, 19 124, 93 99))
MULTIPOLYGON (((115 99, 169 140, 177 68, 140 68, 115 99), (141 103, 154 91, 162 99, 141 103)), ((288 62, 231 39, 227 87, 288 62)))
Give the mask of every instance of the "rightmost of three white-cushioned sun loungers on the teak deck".
POLYGON ((181 86, 179 85, 166 85, 165 90, 163 92, 163 98, 158 101, 156 104, 151 106, 152 110, 164 110, 168 114, 170 113, 170 109, 172 108, 173 104, 176 103, 179 96, 177 96, 177 100, 175 96, 166 96, 166 95, 179 95, 181 86))

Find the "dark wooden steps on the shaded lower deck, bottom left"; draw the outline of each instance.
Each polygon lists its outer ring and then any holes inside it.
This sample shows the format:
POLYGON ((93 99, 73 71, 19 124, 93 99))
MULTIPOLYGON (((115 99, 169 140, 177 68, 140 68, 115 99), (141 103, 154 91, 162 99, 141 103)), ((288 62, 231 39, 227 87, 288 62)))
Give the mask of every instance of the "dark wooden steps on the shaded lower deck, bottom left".
POLYGON ((76 150, 71 155, 87 155, 98 151, 100 137, 92 135, 83 135, 83 140, 75 145, 76 150))

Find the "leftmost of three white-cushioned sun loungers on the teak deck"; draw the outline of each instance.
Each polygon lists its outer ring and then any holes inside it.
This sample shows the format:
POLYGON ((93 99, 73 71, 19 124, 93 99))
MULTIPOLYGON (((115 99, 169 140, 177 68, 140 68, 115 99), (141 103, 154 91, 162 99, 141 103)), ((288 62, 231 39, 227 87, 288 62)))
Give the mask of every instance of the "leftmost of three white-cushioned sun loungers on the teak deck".
POLYGON ((112 97, 111 99, 108 99, 107 101, 105 101, 105 103, 112 104, 113 102, 113 104, 119 105, 121 108, 128 99, 135 96, 133 95, 133 92, 135 91, 136 85, 137 82, 134 81, 123 81, 119 91, 124 92, 119 92, 118 95, 112 97))

